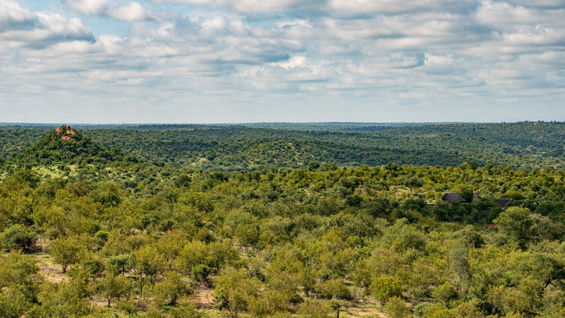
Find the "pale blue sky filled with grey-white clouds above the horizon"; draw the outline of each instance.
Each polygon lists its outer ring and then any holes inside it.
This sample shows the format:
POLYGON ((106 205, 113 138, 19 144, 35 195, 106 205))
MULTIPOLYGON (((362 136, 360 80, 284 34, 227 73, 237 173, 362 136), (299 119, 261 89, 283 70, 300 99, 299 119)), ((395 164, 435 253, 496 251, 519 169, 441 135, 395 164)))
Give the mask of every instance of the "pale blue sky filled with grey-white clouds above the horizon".
POLYGON ((565 121, 565 0, 0 0, 0 122, 565 121))

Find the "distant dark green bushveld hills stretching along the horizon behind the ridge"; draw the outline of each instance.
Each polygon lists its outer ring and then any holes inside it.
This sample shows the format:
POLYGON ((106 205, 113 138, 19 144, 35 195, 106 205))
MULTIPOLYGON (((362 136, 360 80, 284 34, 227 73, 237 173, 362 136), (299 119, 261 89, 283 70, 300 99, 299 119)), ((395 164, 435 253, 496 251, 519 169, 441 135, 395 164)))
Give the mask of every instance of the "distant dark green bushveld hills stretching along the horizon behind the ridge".
MULTIPOLYGON (((195 169, 218 171, 262 170, 272 166, 304 168, 310 161, 334 162, 338 166, 376 166, 388 162, 458 166, 463 161, 475 161, 480 166, 490 162, 511 165, 514 169, 565 168, 565 123, 558 122, 444 124, 385 127, 375 131, 371 127, 384 126, 264 124, 259 127, 267 128, 142 125, 86 127, 82 131, 102 147, 114 149, 112 158, 124 154, 144 162, 177 162, 195 169), (311 130, 303 130, 304 127, 311 130)), ((0 161, 11 165, 15 153, 34 145, 53 127, 1 129, 0 161)), ((84 154, 75 157, 72 163, 84 170, 94 159, 84 154)), ((96 162, 105 164, 102 159, 96 162)), ((47 166, 57 160, 58 157, 28 156, 19 158, 18 164, 24 161, 33 166, 47 166)), ((87 169, 85 174, 91 172, 87 169)))

